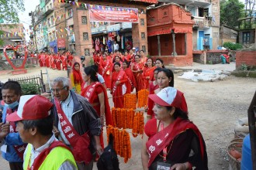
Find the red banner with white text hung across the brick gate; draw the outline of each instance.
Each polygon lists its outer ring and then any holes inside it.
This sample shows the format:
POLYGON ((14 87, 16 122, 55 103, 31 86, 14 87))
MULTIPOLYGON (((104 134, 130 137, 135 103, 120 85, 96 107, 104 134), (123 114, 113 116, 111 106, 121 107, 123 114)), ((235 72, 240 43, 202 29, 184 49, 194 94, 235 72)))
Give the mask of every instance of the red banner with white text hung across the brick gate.
POLYGON ((137 8, 89 5, 90 22, 139 22, 137 8))

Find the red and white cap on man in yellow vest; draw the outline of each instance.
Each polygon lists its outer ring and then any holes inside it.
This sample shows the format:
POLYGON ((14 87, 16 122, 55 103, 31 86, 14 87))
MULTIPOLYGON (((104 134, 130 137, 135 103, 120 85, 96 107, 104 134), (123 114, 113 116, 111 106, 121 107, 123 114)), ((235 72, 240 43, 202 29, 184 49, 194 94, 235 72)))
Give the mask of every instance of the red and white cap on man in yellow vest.
POLYGON ((19 99, 18 110, 6 117, 7 121, 37 120, 48 117, 54 104, 40 95, 25 95, 19 99))

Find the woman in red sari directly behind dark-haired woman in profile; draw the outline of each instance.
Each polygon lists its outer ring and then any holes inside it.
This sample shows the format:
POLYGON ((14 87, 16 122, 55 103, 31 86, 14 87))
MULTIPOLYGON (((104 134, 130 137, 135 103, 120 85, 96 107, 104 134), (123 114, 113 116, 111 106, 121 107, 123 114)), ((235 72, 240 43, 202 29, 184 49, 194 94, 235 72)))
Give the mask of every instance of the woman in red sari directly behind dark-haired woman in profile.
POLYGON ((102 67, 102 76, 105 80, 106 87, 110 89, 111 87, 110 71, 112 68, 112 62, 110 59, 107 58, 106 53, 104 53, 102 56, 101 67, 102 67))

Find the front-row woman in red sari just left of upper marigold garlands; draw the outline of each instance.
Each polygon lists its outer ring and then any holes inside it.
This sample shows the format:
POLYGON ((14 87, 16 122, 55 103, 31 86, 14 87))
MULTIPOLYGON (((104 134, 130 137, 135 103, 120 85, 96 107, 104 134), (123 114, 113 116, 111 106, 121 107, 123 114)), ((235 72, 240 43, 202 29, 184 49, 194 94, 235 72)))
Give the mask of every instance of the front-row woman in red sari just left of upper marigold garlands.
POLYGON ((123 95, 126 93, 126 82, 128 77, 126 73, 121 70, 120 63, 114 63, 115 71, 112 73, 111 91, 114 107, 123 108, 123 95))

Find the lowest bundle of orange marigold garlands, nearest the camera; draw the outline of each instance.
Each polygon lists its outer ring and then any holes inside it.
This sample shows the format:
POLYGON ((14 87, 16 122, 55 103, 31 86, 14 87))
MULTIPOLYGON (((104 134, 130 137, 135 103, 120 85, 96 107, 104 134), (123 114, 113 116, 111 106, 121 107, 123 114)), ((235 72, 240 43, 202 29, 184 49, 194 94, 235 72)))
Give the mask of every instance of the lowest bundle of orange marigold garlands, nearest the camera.
POLYGON ((131 158, 132 152, 130 147, 130 134, 125 130, 119 128, 113 128, 109 125, 106 129, 107 131, 107 141, 109 142, 109 134, 113 135, 114 138, 114 149, 116 154, 124 158, 124 162, 128 162, 128 159, 131 158))

